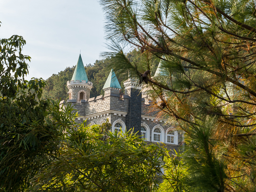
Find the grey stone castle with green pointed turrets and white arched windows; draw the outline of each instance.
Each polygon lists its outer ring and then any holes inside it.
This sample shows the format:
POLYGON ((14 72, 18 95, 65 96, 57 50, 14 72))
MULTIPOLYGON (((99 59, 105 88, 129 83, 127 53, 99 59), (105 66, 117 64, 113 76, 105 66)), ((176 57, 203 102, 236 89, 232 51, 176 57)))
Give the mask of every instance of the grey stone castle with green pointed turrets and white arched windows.
MULTIPOLYGON (((158 75, 161 75, 160 65, 161 62, 156 70, 158 75)), ((112 131, 124 132, 134 127, 134 131, 141 134, 146 142, 162 142, 167 148, 178 150, 182 135, 174 126, 166 125, 165 119, 157 118, 158 111, 149 111, 151 100, 137 80, 129 77, 124 81, 125 93, 122 98, 121 86, 113 69, 104 84, 104 95, 90 98, 92 86, 79 55, 73 77, 67 82, 69 99, 60 102, 60 106, 71 103, 73 109, 77 110, 77 122, 87 120, 87 124, 101 125, 108 118, 112 131)))

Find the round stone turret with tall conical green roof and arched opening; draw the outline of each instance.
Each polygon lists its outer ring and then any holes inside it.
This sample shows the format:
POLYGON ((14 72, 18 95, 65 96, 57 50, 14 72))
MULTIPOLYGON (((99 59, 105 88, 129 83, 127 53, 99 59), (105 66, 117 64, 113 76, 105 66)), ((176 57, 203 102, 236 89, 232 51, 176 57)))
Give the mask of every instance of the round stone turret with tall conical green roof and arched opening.
POLYGON ((88 81, 81 54, 79 55, 73 77, 71 81, 67 82, 67 87, 69 99, 81 102, 82 99, 90 98, 92 82, 88 81))

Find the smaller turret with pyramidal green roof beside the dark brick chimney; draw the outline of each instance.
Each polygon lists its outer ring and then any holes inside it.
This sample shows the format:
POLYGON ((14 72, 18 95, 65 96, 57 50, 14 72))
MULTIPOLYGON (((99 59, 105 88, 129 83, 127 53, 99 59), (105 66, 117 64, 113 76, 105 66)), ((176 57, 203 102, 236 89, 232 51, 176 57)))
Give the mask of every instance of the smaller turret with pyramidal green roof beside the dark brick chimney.
POLYGON ((119 94, 121 90, 121 86, 118 82, 118 79, 116 78, 115 72, 113 69, 111 69, 108 79, 106 80, 103 88, 104 94, 114 93, 119 94))

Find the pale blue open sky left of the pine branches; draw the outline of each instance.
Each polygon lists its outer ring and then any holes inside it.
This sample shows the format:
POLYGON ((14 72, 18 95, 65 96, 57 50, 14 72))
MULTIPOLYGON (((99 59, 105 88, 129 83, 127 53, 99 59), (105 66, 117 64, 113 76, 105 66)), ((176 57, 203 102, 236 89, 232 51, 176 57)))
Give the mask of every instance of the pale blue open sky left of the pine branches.
POLYGON ((29 74, 47 79, 76 65, 80 50, 84 65, 104 59, 104 14, 96 0, 0 0, 0 38, 20 35, 29 74))

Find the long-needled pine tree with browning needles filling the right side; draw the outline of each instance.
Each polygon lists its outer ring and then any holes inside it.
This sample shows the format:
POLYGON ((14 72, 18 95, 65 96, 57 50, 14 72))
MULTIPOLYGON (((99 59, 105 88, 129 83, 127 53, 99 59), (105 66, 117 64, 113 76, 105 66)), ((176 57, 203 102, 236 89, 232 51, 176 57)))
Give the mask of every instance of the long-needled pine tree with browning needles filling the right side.
POLYGON ((185 133, 188 185, 172 190, 255 191, 255 1, 100 4, 114 70, 145 81, 159 115, 185 133), (129 48, 141 62, 127 59, 129 48), (157 58, 160 75, 145 73, 157 58))

